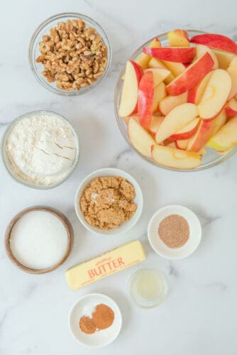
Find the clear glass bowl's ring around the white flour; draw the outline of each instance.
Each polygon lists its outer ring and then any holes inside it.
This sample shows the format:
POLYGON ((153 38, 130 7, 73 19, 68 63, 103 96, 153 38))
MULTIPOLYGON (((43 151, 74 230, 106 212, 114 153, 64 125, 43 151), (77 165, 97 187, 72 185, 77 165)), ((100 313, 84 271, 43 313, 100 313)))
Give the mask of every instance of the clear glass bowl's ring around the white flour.
POLYGON ((72 174, 72 172, 75 170, 78 160, 79 160, 79 153, 80 153, 80 148, 79 148, 79 138, 77 136, 77 132, 75 131, 75 129, 73 128, 72 124, 70 124, 69 121, 67 121, 67 119, 65 119, 64 116, 57 114, 56 112, 53 111, 31 111, 28 112, 26 114, 22 114, 21 116, 18 116, 16 119, 14 119, 11 124, 9 124, 9 126, 7 127, 6 131, 4 132, 4 136, 1 138, 1 158, 2 161, 4 162, 5 168, 8 171, 8 173, 11 175, 11 177, 16 180, 17 182, 21 183, 24 186, 27 187, 32 187, 33 189, 37 189, 37 190, 50 190, 53 189, 54 187, 57 187, 59 185, 62 184, 62 182, 64 182, 65 180, 67 180, 67 178, 70 177, 70 175, 72 174), (68 170, 67 174, 62 175, 62 179, 58 180, 57 182, 55 182, 54 184, 51 185, 36 185, 33 184, 31 182, 26 182, 26 180, 21 179, 11 168, 11 163, 9 163, 9 159, 6 155, 6 141, 7 138, 9 136, 9 133, 11 132, 11 129, 13 128, 13 126, 20 121, 21 119, 24 119, 28 116, 32 116, 33 114, 47 114, 47 116, 58 116, 60 117, 60 119, 62 119, 63 121, 66 121, 67 124, 70 126, 70 129, 72 129, 72 132, 74 133, 75 136, 75 143, 77 146, 77 153, 75 155, 75 160, 72 163, 71 168, 68 170))

